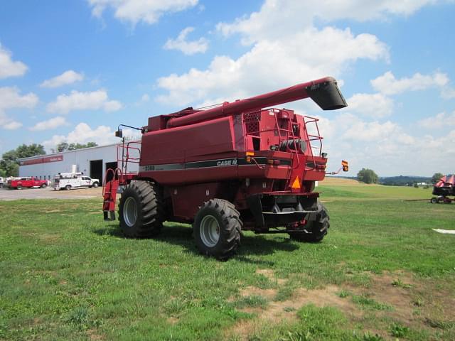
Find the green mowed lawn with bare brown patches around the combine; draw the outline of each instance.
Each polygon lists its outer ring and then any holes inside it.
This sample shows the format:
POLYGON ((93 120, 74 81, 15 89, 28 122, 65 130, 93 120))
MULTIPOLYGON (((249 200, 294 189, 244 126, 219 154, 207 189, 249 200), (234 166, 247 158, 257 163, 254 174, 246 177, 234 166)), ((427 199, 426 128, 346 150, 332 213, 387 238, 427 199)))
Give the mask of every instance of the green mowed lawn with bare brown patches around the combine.
POLYGON ((101 200, 0 202, 1 340, 455 340, 455 204, 328 179, 320 244, 245 232, 200 256, 189 225, 125 239, 101 200))

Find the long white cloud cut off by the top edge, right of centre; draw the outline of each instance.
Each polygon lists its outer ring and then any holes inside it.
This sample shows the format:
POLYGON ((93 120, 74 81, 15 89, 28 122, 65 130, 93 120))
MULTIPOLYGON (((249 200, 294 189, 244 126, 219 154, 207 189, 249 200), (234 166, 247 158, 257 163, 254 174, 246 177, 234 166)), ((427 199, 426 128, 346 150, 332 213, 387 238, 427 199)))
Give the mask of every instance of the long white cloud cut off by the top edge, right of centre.
MULTIPOLYGON (((331 22, 338 19, 367 21, 392 15, 410 15, 435 0, 266 0, 261 9, 250 16, 237 18, 233 23, 219 23, 218 31, 225 36, 240 33, 242 42, 253 43, 297 32, 314 25, 314 21, 331 22), (283 22, 286 18, 286 23, 283 22)), ((317 55, 317 53, 316 53, 317 55)))

